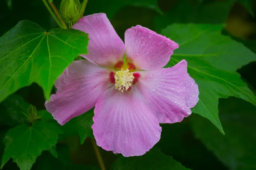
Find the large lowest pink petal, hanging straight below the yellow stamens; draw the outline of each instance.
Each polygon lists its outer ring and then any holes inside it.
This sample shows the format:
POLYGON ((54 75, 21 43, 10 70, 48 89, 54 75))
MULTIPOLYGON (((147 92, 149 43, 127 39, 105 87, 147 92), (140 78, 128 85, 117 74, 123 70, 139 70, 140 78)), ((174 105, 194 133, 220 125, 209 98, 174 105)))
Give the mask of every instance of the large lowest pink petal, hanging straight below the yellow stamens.
POLYGON ((123 156, 145 154, 160 139, 156 117, 133 90, 108 89, 96 103, 92 125, 97 145, 123 156))

